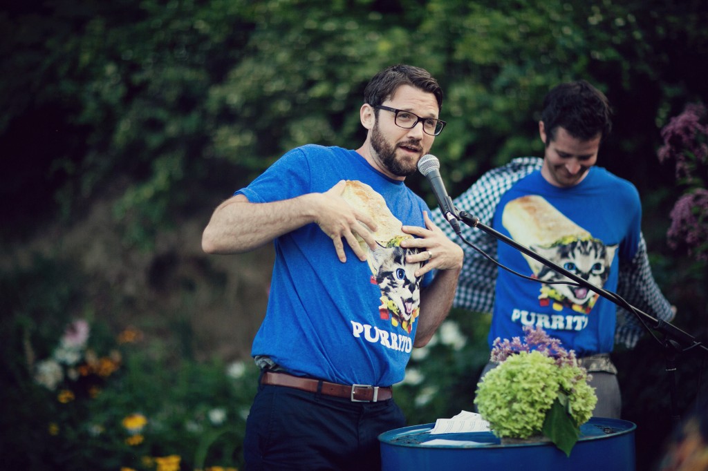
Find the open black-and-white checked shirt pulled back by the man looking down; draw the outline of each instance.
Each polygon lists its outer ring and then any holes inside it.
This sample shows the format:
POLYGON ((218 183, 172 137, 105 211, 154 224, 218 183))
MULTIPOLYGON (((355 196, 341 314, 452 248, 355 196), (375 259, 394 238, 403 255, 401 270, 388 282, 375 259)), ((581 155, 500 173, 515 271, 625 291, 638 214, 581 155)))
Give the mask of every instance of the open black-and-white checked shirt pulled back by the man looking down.
MULTIPOLYGON (((542 158, 515 158, 507 165, 482 175, 472 187, 455 198, 453 203, 457 209, 467 211, 470 215, 479 218, 479 221, 485 226, 491 226, 494 212, 502 195, 522 178, 540 170, 542 164, 542 158)), ((433 211, 432 219, 450 239, 457 241, 457 235, 452 231, 450 224, 445 221, 440 209, 433 211)), ((464 225, 462 225, 462 236, 476 248, 496 260, 496 238, 478 228, 464 225)), ((498 267, 469 245, 461 242, 460 245, 464 250, 464 265, 459 276, 453 306, 475 312, 491 313, 494 306, 498 267)), ((632 306, 656 318, 667 322, 673 320, 674 313, 670 303, 666 301, 652 277, 644 236, 640 237, 639 247, 632 260, 619 264, 617 294, 632 306)), ((615 342, 632 348, 643 333, 644 327, 632 313, 624 308, 617 308, 615 342)))

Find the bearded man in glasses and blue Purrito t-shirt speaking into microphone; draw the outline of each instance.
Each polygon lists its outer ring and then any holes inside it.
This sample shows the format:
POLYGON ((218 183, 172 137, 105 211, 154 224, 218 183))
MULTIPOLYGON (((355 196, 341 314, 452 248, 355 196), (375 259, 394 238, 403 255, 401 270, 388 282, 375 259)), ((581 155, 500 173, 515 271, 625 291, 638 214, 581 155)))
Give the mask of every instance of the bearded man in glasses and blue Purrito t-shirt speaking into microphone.
POLYGON ((310 144, 285 153, 220 204, 202 235, 208 253, 275 246, 251 349, 261 378, 246 424, 250 471, 379 469, 377 436, 405 425, 391 385, 452 303, 462 249, 404 184, 445 126, 440 86, 424 69, 396 65, 364 95, 359 149, 310 144), (349 204, 352 180, 385 202, 380 211, 349 204), (402 236, 382 247, 377 216, 387 211, 402 236), (384 248, 399 255, 374 277, 371 254, 384 248), (394 296, 384 289, 406 298, 414 315, 405 328, 384 315, 384 294, 394 296))

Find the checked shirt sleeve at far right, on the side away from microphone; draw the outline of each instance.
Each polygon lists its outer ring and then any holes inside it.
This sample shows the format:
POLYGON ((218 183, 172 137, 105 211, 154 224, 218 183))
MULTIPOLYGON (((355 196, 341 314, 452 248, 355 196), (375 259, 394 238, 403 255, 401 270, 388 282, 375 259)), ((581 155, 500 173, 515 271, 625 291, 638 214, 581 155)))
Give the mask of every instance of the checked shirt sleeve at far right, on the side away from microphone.
MULTIPOLYGON (((634 258, 630 262, 624 262, 619 266, 617 294, 627 303, 655 318, 666 322, 670 322, 674 318, 670 303, 664 298, 651 275, 651 267, 649 267, 649 257, 646 255, 646 242, 643 235, 639 239, 639 248, 634 258)), ((624 308, 617 308, 616 343, 624 344, 627 348, 633 348, 644 332, 644 326, 634 314, 624 308)))

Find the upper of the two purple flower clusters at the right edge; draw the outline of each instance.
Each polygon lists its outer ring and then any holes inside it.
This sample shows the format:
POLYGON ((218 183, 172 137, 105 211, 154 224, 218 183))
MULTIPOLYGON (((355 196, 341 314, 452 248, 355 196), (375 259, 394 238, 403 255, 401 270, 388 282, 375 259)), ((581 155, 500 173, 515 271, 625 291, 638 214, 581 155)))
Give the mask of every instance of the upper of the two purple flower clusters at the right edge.
POLYGON ((661 129, 664 144, 658 158, 661 162, 675 161, 676 178, 692 182, 696 166, 708 163, 708 124, 701 122, 705 115, 702 103, 687 105, 661 129))

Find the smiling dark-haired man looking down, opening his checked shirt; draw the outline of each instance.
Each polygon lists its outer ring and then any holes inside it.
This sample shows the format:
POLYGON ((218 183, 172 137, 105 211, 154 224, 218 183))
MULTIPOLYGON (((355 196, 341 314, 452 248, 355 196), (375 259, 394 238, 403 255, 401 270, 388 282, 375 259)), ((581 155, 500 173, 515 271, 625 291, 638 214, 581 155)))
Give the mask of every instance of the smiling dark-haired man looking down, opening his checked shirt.
MULTIPOLYGON (((611 127, 610 104, 602 92, 586 81, 561 83, 546 95, 538 123, 544 157, 515 158, 490 170, 454 204, 594 286, 668 321, 673 308, 651 276, 639 194, 632 183, 595 166, 611 127)), ((440 211, 433 220, 452 236, 440 211)), ((573 349, 591 373, 598 396, 593 415, 619 418, 622 401, 610 352, 615 340, 634 347, 643 332, 639 320, 585 287, 559 283, 570 280, 479 229, 465 226, 462 235, 516 272, 464 249, 455 306, 492 313, 489 346, 498 337, 523 337, 523 327, 541 327, 573 349)), ((482 376, 494 366, 487 364, 482 376)))

